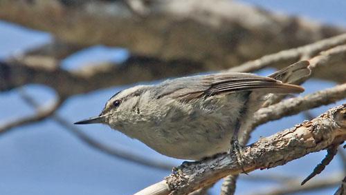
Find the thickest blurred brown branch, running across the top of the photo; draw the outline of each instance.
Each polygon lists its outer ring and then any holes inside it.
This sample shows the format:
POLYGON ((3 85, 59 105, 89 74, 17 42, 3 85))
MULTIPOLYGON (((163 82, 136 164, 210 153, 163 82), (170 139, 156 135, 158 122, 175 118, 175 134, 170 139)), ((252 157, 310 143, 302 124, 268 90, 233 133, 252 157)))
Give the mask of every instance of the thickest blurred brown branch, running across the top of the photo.
POLYGON ((129 12, 123 1, 33 2, 2 0, 0 19, 51 32, 66 43, 113 45, 158 59, 205 61, 209 70, 345 32, 227 0, 145 1, 149 2, 145 9, 127 4, 131 10, 145 10, 143 17, 129 12))

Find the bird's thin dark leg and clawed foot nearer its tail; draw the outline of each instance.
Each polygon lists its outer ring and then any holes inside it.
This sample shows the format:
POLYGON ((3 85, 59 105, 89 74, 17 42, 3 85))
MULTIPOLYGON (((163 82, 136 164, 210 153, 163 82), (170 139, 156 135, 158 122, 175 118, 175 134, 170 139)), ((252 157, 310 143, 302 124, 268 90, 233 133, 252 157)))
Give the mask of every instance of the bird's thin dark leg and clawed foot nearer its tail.
POLYGON ((239 129, 240 129, 240 123, 239 120, 237 120, 237 123, 235 125, 235 131, 233 133, 232 138, 230 139, 230 155, 232 155, 232 153, 235 154, 235 156, 237 157, 237 162, 240 165, 240 167, 242 167, 243 173, 247 174, 246 171, 244 170, 244 147, 242 145, 239 144, 238 141, 238 133, 239 133, 239 129))

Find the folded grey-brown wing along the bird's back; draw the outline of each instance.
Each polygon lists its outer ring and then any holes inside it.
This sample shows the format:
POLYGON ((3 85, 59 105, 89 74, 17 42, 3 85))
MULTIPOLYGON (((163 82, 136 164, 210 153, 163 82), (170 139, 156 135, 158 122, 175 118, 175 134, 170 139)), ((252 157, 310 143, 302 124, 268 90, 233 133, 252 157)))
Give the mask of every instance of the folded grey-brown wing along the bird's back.
POLYGON ((161 90, 157 94, 158 99, 169 96, 181 101, 249 90, 260 90, 264 94, 288 94, 304 91, 304 88, 298 85, 282 83, 265 76, 237 72, 173 79, 165 81, 159 88, 161 90))

